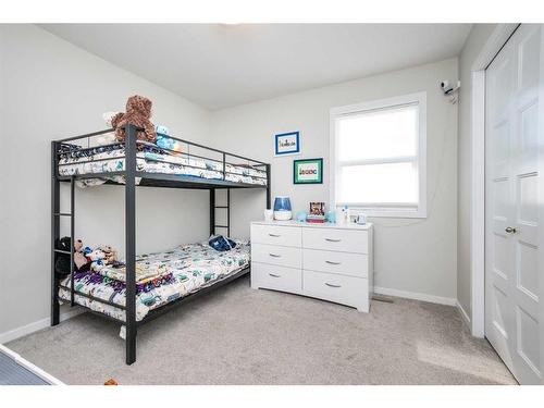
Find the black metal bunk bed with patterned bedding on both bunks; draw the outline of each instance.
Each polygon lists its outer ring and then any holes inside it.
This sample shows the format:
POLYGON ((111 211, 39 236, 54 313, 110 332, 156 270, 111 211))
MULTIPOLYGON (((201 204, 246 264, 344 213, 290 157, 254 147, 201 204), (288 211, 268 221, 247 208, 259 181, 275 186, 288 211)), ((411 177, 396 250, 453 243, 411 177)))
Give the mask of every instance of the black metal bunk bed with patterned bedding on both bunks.
MULTIPOLYGON (((217 230, 231 233, 231 189, 256 188, 265 190, 265 205, 270 209, 270 164, 230 153, 211 147, 169 136, 184 146, 174 151, 153 144, 137 140, 139 131, 134 125, 124 127, 125 140, 97 145, 96 137, 111 133, 106 129, 53 140, 51 143, 51 325, 60 322, 60 302, 79 306, 125 327, 126 363, 136 361, 137 327, 198 296, 227 284, 249 272, 249 246, 237 242, 236 249, 212 256, 214 249, 203 243, 181 246, 165 252, 136 256, 136 187, 193 188, 210 191, 210 235, 217 230), (60 183, 70 183, 70 212, 60 210, 60 183), (74 252, 55 247, 60 238, 60 219, 70 220, 71 247, 75 237, 75 186, 100 184, 120 185, 125 190, 125 262, 121 288, 98 289, 100 282, 89 282, 74 270, 74 252), (226 190, 226 205, 217 206, 215 190, 226 190), (226 222, 217 224, 217 210, 226 211, 226 222), (70 275, 60 279, 55 274, 55 261, 60 254, 70 255, 70 275), (161 279, 164 285, 143 290, 145 279, 143 260, 176 264, 176 259, 187 259, 196 254, 206 259, 215 273, 209 276, 188 273, 183 280, 172 280, 165 269, 161 279), (113 290, 113 292, 112 292, 113 290), (154 290, 154 292, 153 292, 154 290), (154 296, 160 301, 147 302, 144 296, 154 296)), ((111 272, 111 271, 110 271, 111 272)), ((104 274, 106 279, 108 274, 104 274)), ((119 286, 119 285, 118 285, 119 286)))

